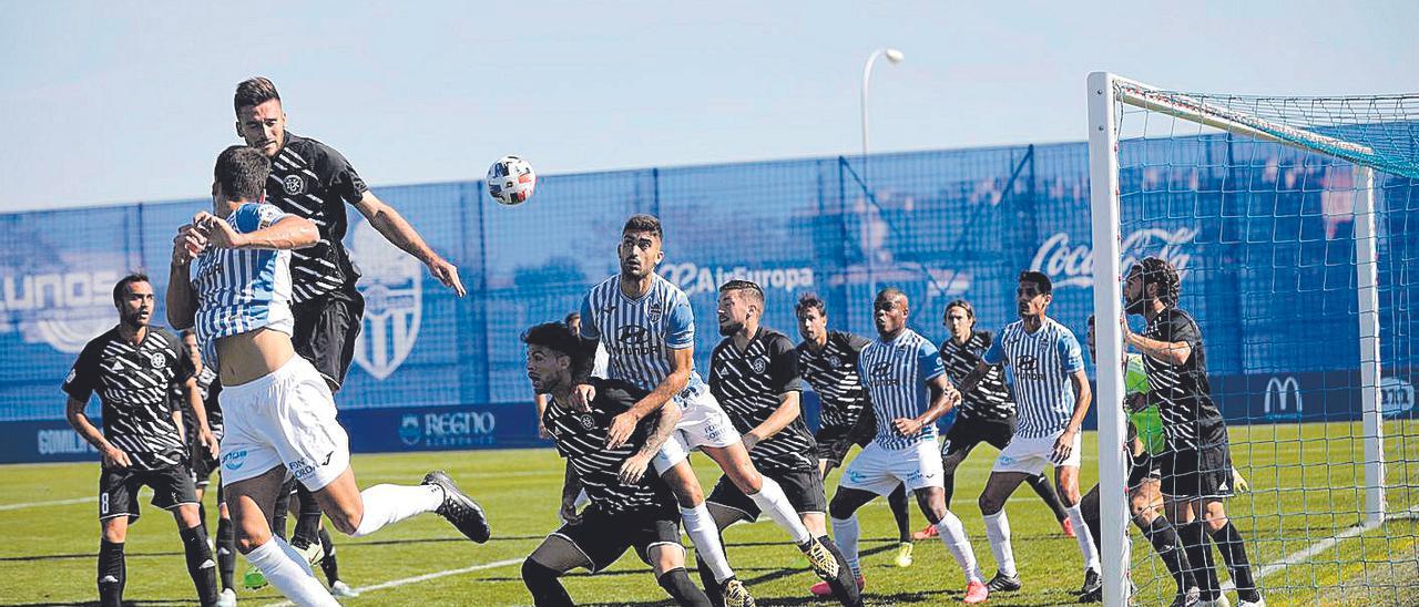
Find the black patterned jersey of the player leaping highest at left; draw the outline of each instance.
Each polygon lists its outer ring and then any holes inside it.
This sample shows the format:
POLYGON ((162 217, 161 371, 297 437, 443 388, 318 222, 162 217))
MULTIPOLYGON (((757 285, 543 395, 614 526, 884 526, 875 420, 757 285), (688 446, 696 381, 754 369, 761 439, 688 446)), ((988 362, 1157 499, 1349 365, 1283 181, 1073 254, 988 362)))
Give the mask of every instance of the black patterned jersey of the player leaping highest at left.
POLYGON ((314 299, 346 284, 353 288, 355 269, 342 240, 349 227, 345 203, 359 203, 369 191, 345 156, 315 139, 285 133, 285 146, 271 159, 267 201, 282 211, 315 223, 321 241, 291 251, 292 301, 314 299))

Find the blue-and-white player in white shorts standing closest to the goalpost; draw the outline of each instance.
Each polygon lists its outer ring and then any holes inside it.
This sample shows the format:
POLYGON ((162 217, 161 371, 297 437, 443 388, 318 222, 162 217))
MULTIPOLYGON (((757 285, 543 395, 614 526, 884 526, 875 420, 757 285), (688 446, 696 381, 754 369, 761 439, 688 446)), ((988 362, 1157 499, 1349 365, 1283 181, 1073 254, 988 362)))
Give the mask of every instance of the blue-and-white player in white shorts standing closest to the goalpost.
POLYGON ((990 591, 1020 589, 1005 501, 1020 482, 1049 467, 1054 468, 1060 499, 1084 556, 1084 586, 1078 593, 1088 594, 1103 586, 1098 550, 1078 509, 1080 425, 1093 393, 1078 339, 1047 315, 1053 301, 1050 278, 1043 272, 1025 271, 1017 285, 1015 301, 1020 319, 1000 330, 981 363, 961 380, 961 391, 969 394, 996 364, 1005 363, 1015 372, 1012 393, 1019 425, 996 458, 979 499, 986 538, 999 566, 989 586, 990 591))

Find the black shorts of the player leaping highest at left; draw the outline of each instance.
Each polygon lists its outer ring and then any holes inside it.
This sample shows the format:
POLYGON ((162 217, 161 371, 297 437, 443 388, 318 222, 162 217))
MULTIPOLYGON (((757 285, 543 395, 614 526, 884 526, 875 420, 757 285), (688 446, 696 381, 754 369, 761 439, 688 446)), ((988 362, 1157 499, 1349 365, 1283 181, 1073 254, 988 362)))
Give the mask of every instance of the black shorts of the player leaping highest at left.
POLYGON ((315 299, 292 304, 291 313, 295 316, 295 335, 291 336, 295 353, 309 360, 325 382, 333 386, 332 390, 339 390, 350 360, 355 360, 365 298, 353 288, 335 289, 315 299))

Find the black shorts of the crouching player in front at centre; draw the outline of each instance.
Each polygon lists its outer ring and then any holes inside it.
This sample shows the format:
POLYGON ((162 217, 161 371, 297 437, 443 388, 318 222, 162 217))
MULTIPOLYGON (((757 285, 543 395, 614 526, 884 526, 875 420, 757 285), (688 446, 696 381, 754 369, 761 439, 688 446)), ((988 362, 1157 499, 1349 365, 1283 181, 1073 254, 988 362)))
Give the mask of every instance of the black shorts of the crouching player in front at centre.
POLYGON ((586 555, 586 560, 592 562, 592 573, 610 567, 631 547, 647 564, 654 546, 674 545, 684 550, 680 543, 680 513, 674 508, 609 513, 593 502, 582 511, 580 519, 562 525, 552 535, 568 539, 586 555))

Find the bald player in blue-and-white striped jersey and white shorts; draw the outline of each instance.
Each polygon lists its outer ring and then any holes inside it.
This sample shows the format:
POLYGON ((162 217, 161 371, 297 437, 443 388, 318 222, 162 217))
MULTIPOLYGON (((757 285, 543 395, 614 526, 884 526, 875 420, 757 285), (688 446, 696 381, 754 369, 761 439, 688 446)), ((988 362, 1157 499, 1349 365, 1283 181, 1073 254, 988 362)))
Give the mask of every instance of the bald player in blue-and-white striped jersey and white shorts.
POLYGON ((877 339, 863 347, 857 364, 877 414, 877 435, 847 464, 827 506, 833 538, 861 584, 856 512, 905 484, 965 572, 965 601, 983 603, 988 591, 971 540, 961 519, 946 509, 937 447, 937 420, 961 400, 961 394, 946 379, 937 346, 907 328, 908 313, 907 295, 898 289, 883 289, 873 302, 877 339))

